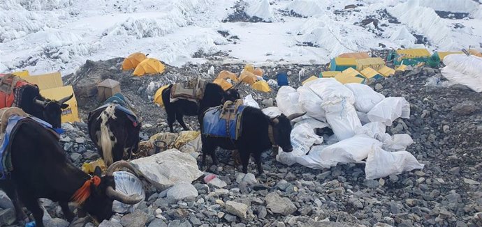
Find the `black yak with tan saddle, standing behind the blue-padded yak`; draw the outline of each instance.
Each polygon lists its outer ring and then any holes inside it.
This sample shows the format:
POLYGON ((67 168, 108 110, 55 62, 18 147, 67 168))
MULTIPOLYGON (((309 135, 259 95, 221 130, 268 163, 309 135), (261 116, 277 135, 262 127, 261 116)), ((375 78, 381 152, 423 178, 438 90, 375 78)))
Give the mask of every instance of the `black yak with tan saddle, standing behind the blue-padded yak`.
MULTIPOLYGON (((168 88, 162 91, 162 102, 166 113, 168 114, 168 125, 170 132, 174 132, 173 124, 175 120, 184 128, 184 130, 189 130, 182 117, 185 116, 199 116, 200 113, 205 111, 210 107, 217 107, 227 100, 237 100, 240 98, 240 94, 235 90, 235 87, 224 91, 221 86, 214 83, 207 83, 204 89, 203 97, 198 100, 198 103, 179 99, 175 102, 170 102, 170 93, 173 85, 171 84, 168 88)), ((198 119, 200 121, 200 119, 198 119)))

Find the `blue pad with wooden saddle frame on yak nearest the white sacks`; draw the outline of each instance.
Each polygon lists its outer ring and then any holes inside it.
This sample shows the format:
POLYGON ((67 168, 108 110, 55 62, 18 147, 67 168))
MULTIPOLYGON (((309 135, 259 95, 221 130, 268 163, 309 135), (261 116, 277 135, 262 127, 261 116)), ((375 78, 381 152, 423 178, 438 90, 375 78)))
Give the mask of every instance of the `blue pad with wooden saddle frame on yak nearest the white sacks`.
POLYGON ((242 111, 245 107, 242 100, 235 100, 207 109, 203 118, 203 134, 238 139, 242 132, 242 111))

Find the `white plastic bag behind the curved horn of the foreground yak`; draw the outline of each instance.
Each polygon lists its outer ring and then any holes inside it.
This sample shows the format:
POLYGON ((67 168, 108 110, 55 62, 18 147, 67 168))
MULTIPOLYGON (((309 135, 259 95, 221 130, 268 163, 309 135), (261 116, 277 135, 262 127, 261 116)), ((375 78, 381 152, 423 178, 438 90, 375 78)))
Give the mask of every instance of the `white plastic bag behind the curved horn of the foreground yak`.
MULTIPOLYGON (((142 201, 145 200, 143 183, 132 173, 125 171, 114 172, 114 180, 115 191, 119 191, 122 194, 126 195, 138 194, 142 196, 142 201)), ((121 214, 126 212, 133 212, 134 210, 136 210, 138 205, 142 203, 142 201, 134 205, 127 205, 119 201, 114 201, 112 203, 112 212, 121 214)))

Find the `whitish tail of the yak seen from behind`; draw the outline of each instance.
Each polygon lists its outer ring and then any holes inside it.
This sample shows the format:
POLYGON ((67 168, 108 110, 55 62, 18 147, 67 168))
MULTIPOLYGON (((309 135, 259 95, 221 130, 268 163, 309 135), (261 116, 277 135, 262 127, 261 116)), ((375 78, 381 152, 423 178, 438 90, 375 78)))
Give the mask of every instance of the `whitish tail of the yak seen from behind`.
POLYGON ((107 121, 109 120, 109 118, 115 118, 114 114, 115 114, 115 105, 109 105, 107 108, 105 108, 105 110, 101 114, 101 119, 102 119, 101 139, 99 142, 101 143, 102 156, 106 166, 110 166, 110 164, 114 162, 112 158, 112 147, 113 147, 112 139, 115 140, 115 137, 113 137, 114 135, 112 134, 112 132, 110 132, 109 127, 107 125, 107 121), (111 138, 111 134, 113 138, 111 138))

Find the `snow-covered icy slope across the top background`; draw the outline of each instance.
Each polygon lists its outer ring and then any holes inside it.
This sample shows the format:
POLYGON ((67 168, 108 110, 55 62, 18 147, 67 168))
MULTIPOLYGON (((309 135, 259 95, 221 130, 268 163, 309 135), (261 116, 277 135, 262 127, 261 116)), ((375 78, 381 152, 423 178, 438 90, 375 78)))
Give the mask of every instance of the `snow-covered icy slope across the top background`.
POLYGON ((132 52, 171 65, 218 52, 226 62, 327 63, 342 52, 419 47, 420 37, 432 51, 480 47, 481 34, 482 5, 472 0, 4 0, 0 72, 65 75, 132 52))

